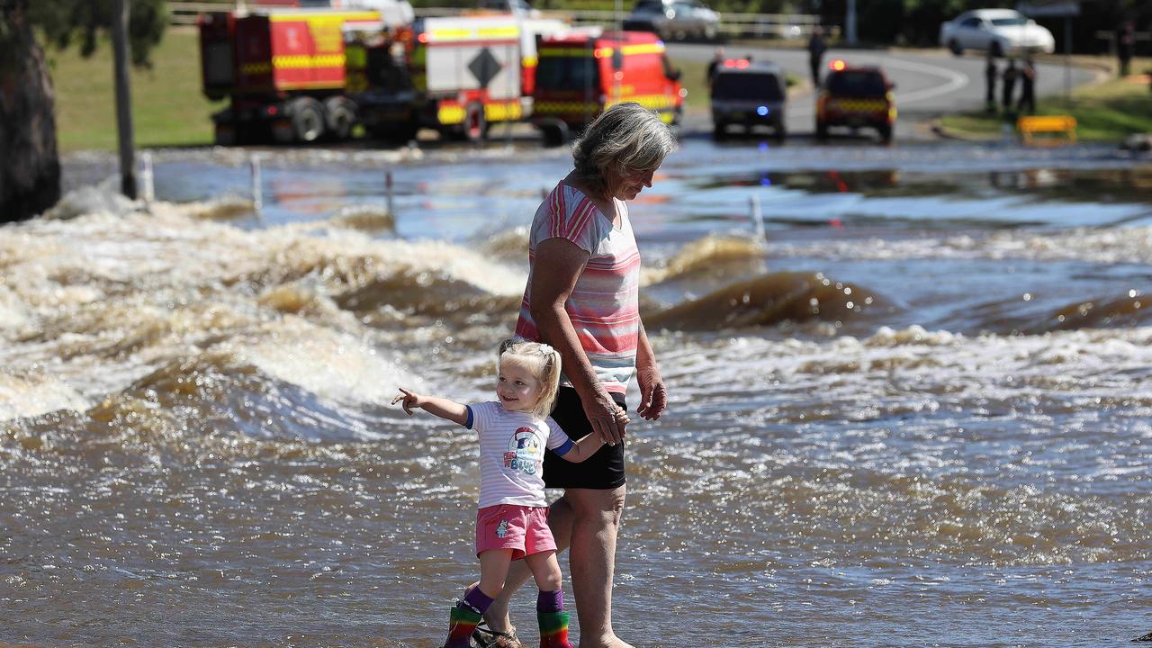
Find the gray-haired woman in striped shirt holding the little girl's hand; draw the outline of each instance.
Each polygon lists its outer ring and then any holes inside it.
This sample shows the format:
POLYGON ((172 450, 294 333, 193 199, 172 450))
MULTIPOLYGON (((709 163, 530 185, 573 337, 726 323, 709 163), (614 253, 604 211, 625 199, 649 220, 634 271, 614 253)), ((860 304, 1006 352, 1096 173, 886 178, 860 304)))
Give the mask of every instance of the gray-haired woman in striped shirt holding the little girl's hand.
MULTIPOLYGON (((583 464, 548 452, 544 480, 564 495, 548 525, 560 550, 571 548, 569 574, 581 648, 621 648, 612 630, 616 530, 624 507, 624 391, 636 375, 644 419, 660 417, 664 380, 637 308, 641 257, 628 205, 676 142, 655 113, 639 104, 605 111, 576 142, 575 169, 537 209, 529 272, 516 333, 545 341, 563 357, 553 419, 571 438, 597 434, 605 445, 583 464)), ((482 646, 520 646, 508 600, 526 579, 515 563, 500 597, 477 631, 482 646)))

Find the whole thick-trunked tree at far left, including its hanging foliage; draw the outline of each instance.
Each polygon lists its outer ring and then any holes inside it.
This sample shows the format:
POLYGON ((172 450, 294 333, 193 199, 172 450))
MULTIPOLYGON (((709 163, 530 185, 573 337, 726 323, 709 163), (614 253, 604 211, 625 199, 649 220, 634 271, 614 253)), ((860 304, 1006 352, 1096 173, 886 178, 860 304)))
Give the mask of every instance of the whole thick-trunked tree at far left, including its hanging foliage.
MULTIPOLYGON (((55 97, 37 36, 91 55, 112 25, 112 0, 0 0, 0 221, 29 218, 60 198, 55 97)), ((131 1, 135 65, 149 65, 166 25, 166 0, 131 1)))

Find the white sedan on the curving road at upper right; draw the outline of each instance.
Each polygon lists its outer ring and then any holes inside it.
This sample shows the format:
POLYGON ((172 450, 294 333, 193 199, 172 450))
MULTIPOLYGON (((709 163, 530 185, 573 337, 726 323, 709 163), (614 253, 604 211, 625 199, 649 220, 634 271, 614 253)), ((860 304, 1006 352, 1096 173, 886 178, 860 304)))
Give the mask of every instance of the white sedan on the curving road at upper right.
POLYGON ((1052 32, 1011 9, 976 9, 940 24, 940 45, 957 56, 964 50, 1002 56, 1013 52, 1044 52, 1056 48, 1052 32))

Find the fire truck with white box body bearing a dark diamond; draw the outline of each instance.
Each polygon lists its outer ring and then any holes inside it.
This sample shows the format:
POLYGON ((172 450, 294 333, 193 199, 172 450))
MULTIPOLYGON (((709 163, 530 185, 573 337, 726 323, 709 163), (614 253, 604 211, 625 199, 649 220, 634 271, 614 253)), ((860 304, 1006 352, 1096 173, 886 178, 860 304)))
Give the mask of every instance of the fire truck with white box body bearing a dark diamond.
POLYGON ((411 28, 349 23, 348 97, 377 137, 408 141, 433 128, 482 141, 491 125, 531 113, 537 39, 568 30, 511 14, 430 17, 411 28))

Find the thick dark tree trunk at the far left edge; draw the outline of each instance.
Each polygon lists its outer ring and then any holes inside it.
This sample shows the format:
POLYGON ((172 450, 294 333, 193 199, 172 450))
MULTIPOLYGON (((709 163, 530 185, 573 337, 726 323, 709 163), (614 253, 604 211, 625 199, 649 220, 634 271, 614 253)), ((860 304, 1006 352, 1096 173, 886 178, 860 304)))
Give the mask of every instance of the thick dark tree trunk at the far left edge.
MULTIPOLYGON (((17 3, 18 6, 18 3, 17 3)), ((55 93, 44 51, 20 8, 0 12, 0 221, 31 218, 60 199, 55 93), (6 29, 3 29, 6 28, 6 29)))

